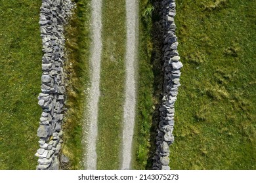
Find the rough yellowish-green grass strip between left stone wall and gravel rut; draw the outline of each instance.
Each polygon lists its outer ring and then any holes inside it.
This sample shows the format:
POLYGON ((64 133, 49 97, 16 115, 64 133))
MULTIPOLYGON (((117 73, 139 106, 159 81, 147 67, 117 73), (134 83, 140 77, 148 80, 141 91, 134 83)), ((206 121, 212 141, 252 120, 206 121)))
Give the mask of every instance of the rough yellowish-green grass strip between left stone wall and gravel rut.
POLYGON ((64 145, 62 154, 70 158, 70 164, 63 169, 83 169, 83 118, 89 86, 90 57, 90 5, 89 0, 75 1, 70 23, 66 26, 66 83, 67 112, 64 118, 64 145))

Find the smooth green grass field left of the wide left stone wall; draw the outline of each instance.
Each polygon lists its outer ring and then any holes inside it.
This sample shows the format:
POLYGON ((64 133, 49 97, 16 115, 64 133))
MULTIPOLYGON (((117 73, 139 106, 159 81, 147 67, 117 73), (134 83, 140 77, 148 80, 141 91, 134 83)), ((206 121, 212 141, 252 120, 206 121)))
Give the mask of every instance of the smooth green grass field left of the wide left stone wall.
POLYGON ((40 6, 41 1, 0 1, 0 169, 37 165, 40 6))

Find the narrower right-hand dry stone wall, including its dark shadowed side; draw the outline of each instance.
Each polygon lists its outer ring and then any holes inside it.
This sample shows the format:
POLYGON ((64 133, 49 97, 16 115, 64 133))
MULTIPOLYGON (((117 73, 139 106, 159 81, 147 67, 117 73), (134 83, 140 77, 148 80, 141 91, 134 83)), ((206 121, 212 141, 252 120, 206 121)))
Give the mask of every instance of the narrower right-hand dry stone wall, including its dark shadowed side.
POLYGON ((173 126, 175 101, 177 100, 180 84, 181 67, 183 66, 177 51, 175 0, 161 1, 162 29, 163 29, 163 99, 160 107, 160 124, 156 137, 156 156, 153 169, 169 170, 169 146, 174 141, 173 126))

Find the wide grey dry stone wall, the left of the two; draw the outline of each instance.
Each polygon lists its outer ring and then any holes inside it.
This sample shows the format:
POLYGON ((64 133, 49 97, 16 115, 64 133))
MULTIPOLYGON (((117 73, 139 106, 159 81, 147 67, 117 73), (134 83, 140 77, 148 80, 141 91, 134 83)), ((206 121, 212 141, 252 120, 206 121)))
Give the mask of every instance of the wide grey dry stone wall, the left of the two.
POLYGON ((38 104, 43 109, 37 136, 40 138, 37 169, 58 169, 64 117, 64 24, 71 12, 69 0, 42 0, 40 30, 43 42, 41 93, 38 104))

